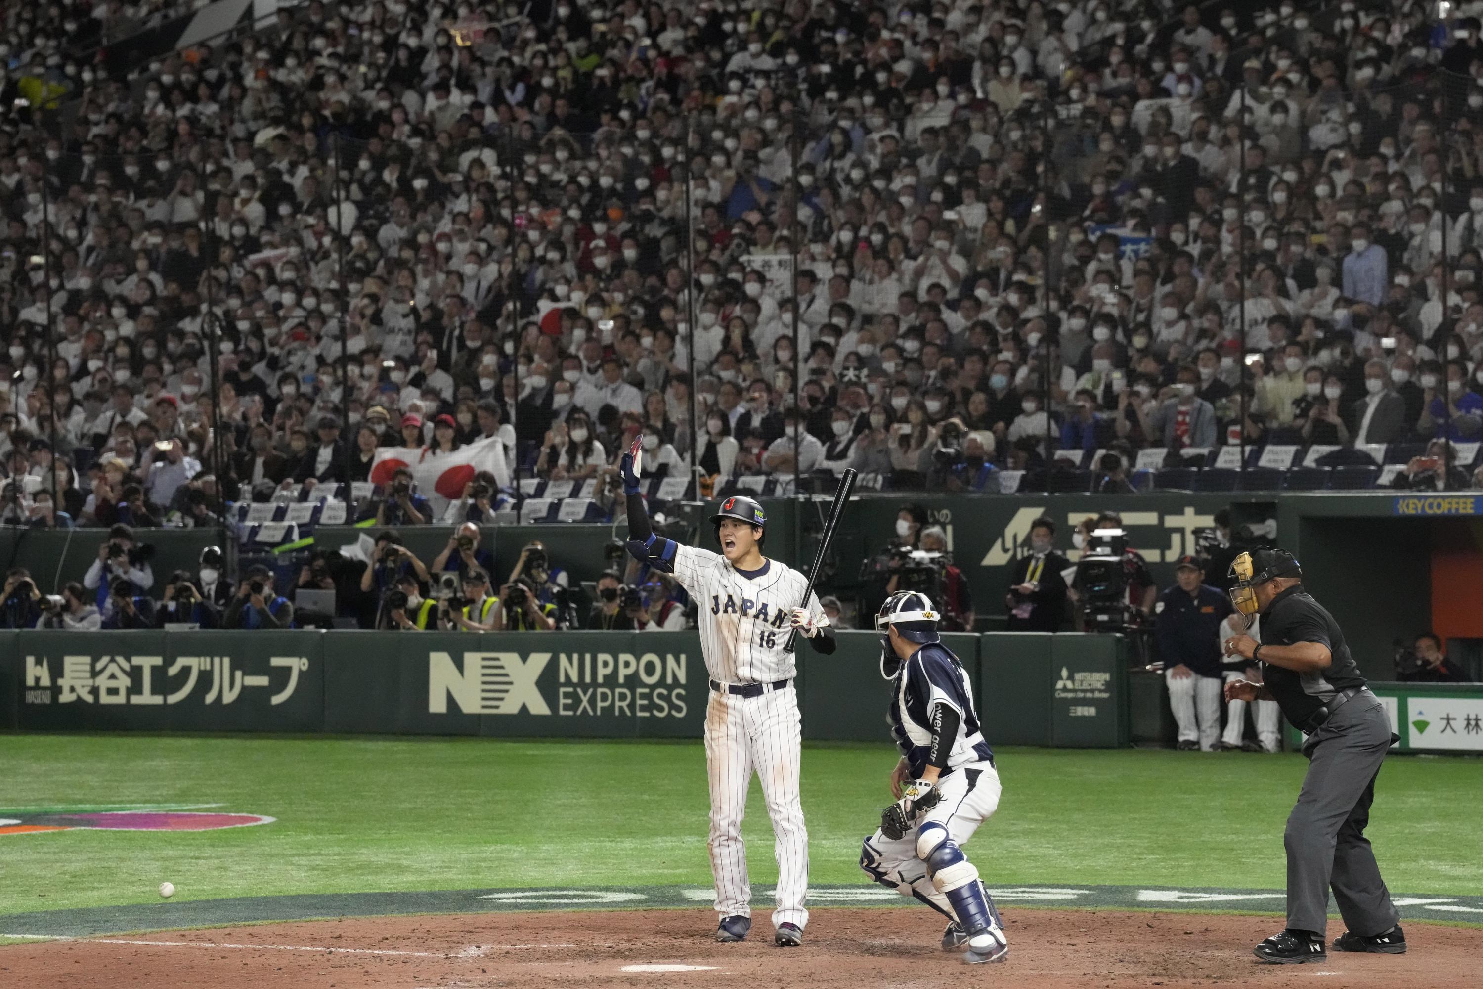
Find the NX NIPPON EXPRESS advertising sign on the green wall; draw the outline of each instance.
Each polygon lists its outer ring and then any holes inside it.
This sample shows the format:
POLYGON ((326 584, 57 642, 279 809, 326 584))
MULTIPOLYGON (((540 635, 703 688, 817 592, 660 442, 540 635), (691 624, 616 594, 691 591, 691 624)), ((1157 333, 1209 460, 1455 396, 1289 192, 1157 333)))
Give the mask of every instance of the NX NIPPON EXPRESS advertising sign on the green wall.
POLYGON ((685 652, 433 649, 427 713, 684 719, 688 681, 685 652))

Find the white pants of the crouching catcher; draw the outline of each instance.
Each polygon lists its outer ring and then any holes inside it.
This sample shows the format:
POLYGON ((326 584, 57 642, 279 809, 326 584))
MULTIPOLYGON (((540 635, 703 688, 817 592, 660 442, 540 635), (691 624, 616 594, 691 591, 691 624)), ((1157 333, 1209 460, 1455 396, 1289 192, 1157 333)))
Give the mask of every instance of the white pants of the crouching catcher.
POLYGON ((860 867, 876 882, 894 885, 902 896, 915 896, 952 918, 952 904, 937 893, 927 876, 927 863, 916 857, 916 832, 927 821, 937 821, 961 848, 979 830, 979 824, 998 810, 1003 787, 992 762, 970 762, 954 770, 937 789, 942 790, 942 799, 921 816, 916 827, 896 841, 882 835, 878 827, 865 839, 860 867))

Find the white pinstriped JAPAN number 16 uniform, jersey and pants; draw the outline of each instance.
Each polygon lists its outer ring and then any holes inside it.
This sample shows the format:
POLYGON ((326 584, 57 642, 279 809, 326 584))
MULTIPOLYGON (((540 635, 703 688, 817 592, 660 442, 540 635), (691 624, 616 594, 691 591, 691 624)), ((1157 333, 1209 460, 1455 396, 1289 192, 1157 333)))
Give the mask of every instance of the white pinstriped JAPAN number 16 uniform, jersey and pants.
MULTIPOLYGON (((700 644, 712 681, 725 685, 762 684, 758 697, 710 691, 706 707, 706 773, 710 778, 710 870, 716 912, 752 915, 752 884, 742 842, 742 817, 752 773, 762 781, 767 814, 777 838, 777 909, 773 927, 808 922, 808 830, 799 798, 801 728, 793 655, 783 651, 792 609, 799 606, 808 578, 765 560, 756 571, 739 571, 727 558, 690 546, 675 553, 675 578, 696 599, 700 644), (787 681, 782 687, 773 685, 787 681)), ((822 614, 810 593, 811 614, 822 614)), ((799 635, 799 642, 802 636, 799 635)), ((796 646, 795 646, 796 648, 796 646)))

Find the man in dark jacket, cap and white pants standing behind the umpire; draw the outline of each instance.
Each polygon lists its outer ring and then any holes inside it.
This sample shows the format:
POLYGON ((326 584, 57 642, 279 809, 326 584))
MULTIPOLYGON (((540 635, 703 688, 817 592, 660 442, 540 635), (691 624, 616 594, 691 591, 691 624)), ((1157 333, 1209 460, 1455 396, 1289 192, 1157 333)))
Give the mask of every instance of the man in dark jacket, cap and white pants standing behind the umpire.
POLYGON ((1231 602, 1204 583, 1194 556, 1175 563, 1179 583, 1158 596, 1154 638, 1164 663, 1169 706, 1179 722, 1179 747, 1212 752, 1221 737, 1221 621, 1231 602))

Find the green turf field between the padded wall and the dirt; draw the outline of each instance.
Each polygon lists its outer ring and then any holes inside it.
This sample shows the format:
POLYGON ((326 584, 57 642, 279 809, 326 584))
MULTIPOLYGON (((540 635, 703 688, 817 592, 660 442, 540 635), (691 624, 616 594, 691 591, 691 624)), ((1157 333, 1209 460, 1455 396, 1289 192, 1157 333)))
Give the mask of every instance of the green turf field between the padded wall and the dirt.
MULTIPOLYGON (((968 854, 994 884, 1281 888, 1296 755, 1007 749, 968 854)), ((816 882, 865 882, 887 746, 804 750, 816 882)), ((1483 891, 1483 761, 1394 758, 1370 836, 1396 891, 1483 891)), ((476 887, 709 885, 698 743, 0 737, 0 814, 182 807, 277 821, 197 833, 0 836, 0 915, 181 899, 476 887)), ((776 879, 752 787, 755 882, 776 879)))

